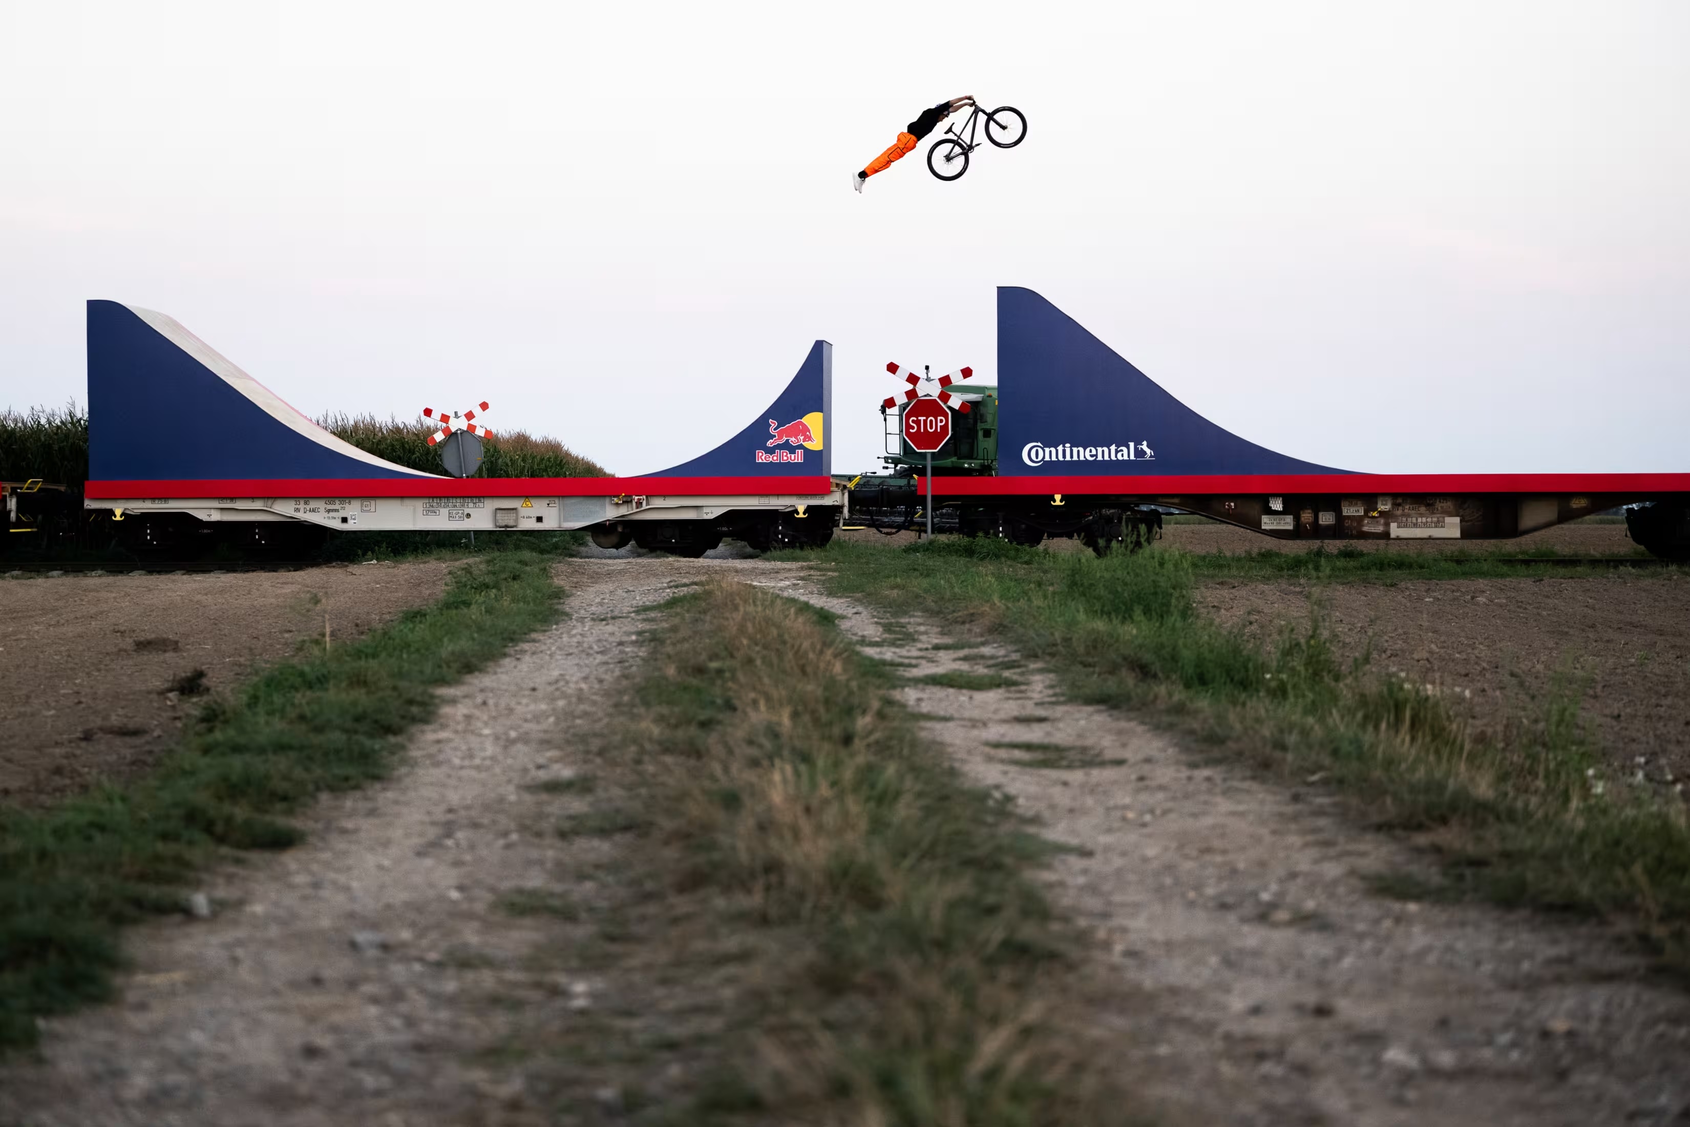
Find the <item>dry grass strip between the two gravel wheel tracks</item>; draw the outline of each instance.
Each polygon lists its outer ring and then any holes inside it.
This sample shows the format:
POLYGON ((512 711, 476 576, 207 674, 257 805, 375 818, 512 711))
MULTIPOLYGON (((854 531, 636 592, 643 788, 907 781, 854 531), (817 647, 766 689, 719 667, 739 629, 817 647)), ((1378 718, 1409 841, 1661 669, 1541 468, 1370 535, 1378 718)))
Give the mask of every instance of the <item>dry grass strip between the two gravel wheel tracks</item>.
POLYGON ((625 752, 671 894, 784 953, 742 992, 740 1110, 1124 1122, 1028 875, 1049 847, 923 743, 880 678, 818 612, 713 581, 671 608, 639 688, 625 752))

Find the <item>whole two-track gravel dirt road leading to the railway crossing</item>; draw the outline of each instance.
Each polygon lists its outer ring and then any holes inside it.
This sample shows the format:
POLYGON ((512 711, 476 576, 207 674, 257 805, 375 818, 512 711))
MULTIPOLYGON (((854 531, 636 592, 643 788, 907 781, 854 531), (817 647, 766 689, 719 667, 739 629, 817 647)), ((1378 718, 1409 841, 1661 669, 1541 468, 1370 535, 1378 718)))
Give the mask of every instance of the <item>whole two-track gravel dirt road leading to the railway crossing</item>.
MULTIPOLYGON (((1362 875, 1415 858, 1318 789, 1207 765, 995 647, 928 649, 803 568, 644 558, 564 564, 571 617, 451 689, 392 781, 321 803, 304 847, 218 872, 213 919, 137 928, 122 1000, 51 1022, 41 1063, 0 1070, 0 1124, 632 1115, 595 1071, 612 1063, 561 1070, 522 1041, 592 1036, 644 1005, 632 980, 583 960, 573 912, 499 904, 544 890, 590 919, 627 879, 619 838, 558 836, 559 803, 637 657, 637 608, 722 573, 835 608, 921 671, 1016 666, 1017 688, 901 691, 943 716, 926 730, 972 777, 1077 847, 1048 880, 1097 936, 1092 1019, 1169 1122, 1690 1122, 1690 997, 1612 936, 1374 899, 1362 875)), ((661 1103, 684 1053, 652 1037, 617 1068, 661 1103)))

